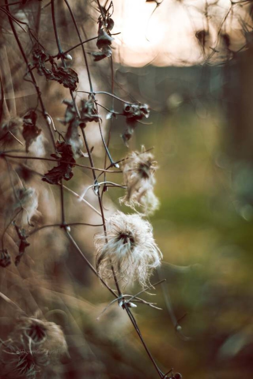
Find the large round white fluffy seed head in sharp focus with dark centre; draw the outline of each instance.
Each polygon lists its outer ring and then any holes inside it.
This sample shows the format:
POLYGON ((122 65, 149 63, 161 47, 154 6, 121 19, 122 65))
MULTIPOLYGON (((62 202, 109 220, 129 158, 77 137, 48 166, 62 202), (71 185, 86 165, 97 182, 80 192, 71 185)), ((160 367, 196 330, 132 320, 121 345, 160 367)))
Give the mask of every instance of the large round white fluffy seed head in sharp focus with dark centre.
POLYGON ((152 270, 160 264, 162 253, 154 241, 151 224, 140 215, 117 211, 106 222, 107 236, 96 233, 96 269, 103 279, 112 277, 112 266, 119 280, 137 279, 145 287, 152 270))

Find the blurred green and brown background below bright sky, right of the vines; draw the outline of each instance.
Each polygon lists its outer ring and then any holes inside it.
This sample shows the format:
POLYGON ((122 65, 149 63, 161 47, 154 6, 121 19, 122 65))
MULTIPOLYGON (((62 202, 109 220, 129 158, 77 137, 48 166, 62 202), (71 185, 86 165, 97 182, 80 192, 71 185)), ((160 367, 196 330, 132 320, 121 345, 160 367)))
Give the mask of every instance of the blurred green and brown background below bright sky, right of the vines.
MULTIPOLYGON (((189 340, 176 334, 161 288, 162 311, 140 305, 135 313, 156 359, 187 379, 253 377, 251 54, 220 67, 116 71, 132 97, 151 105, 152 125, 139 124, 129 147, 154 146, 160 209, 151 222, 163 290, 189 340)), ((124 119, 113 122, 115 159, 123 130, 124 119)), ((119 191, 109 192, 115 204, 119 191)))

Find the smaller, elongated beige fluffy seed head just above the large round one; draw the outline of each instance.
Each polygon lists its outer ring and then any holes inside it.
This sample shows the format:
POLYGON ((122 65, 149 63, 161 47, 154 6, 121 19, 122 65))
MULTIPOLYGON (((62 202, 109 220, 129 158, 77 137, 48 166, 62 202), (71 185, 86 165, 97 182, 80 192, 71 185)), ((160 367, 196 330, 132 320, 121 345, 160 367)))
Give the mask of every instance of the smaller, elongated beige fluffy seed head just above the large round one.
POLYGON ((144 150, 143 146, 141 153, 131 152, 121 164, 127 189, 119 201, 134 210, 142 207, 144 214, 151 215, 159 207, 159 200, 153 192, 157 163, 154 156, 144 150))

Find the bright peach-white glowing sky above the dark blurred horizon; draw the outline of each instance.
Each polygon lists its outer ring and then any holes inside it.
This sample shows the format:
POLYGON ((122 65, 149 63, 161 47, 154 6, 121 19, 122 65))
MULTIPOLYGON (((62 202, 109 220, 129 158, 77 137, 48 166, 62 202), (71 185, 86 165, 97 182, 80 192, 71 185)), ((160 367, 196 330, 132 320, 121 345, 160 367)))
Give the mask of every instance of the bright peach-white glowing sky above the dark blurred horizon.
MULTIPOLYGON (((121 31, 116 60, 129 66, 143 66, 150 62, 158 66, 189 65, 203 61, 203 50, 195 33, 207 30, 207 20, 204 17, 206 1, 164 0, 153 14, 156 7, 153 2, 114 0, 113 3, 113 31, 121 31)), ((210 54, 212 50, 209 46, 216 47, 219 51, 224 49, 217 44, 217 30, 225 19, 231 2, 219 0, 217 5, 211 5, 214 1, 208 3, 210 38, 207 54, 210 54)), ((246 8, 238 5, 233 6, 233 17, 231 14, 226 17, 222 33, 229 34, 231 49, 238 50, 245 43, 241 20, 250 22, 250 17, 247 16, 246 8)), ((213 60, 217 58, 214 57, 213 60)))

